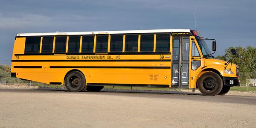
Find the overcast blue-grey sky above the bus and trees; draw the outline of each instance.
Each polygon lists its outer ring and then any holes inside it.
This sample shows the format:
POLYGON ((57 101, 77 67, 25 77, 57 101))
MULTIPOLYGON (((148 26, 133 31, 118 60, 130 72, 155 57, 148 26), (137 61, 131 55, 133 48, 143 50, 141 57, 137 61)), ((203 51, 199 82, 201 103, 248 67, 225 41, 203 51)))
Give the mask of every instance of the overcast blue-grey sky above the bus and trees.
POLYGON ((45 1, 1 0, 0 64, 10 64, 17 33, 195 29, 195 7, 197 30, 217 41, 215 56, 256 46, 256 0, 45 1))

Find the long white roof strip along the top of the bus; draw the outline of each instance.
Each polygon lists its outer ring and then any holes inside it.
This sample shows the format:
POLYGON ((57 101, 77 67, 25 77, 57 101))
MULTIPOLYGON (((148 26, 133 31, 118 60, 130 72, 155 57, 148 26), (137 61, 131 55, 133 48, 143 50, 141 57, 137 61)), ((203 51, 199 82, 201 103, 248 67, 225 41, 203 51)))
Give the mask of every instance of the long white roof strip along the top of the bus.
POLYGON ((48 32, 48 33, 18 33, 16 36, 47 36, 47 35, 94 35, 94 34, 131 34, 131 33, 164 33, 164 32, 190 32, 189 29, 152 29, 127 31, 91 31, 91 32, 48 32))

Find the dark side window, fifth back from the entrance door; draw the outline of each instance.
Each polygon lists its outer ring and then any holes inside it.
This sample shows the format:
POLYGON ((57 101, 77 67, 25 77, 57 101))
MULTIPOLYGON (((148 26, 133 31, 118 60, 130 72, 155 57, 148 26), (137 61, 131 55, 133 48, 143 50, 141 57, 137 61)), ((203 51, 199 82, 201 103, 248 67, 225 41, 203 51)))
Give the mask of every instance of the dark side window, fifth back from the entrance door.
POLYGON ((108 52, 108 35, 97 35, 96 52, 108 52))

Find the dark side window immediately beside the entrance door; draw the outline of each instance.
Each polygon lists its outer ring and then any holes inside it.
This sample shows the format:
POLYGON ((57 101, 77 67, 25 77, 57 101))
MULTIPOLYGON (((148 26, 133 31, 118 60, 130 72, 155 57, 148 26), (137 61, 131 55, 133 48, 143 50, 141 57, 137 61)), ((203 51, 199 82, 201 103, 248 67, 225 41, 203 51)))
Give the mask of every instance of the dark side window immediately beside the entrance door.
POLYGON ((157 34, 156 52, 170 52, 170 34, 157 34))

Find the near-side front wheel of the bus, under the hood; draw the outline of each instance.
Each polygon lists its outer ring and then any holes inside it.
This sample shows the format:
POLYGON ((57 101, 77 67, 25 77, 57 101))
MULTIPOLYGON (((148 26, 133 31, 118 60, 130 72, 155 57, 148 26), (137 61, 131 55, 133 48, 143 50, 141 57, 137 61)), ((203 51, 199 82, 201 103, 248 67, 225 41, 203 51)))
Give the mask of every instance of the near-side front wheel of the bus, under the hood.
POLYGON ((198 89, 201 93, 208 96, 215 96, 221 92, 223 87, 222 79, 218 74, 207 72, 198 79, 198 89))

